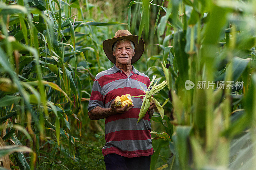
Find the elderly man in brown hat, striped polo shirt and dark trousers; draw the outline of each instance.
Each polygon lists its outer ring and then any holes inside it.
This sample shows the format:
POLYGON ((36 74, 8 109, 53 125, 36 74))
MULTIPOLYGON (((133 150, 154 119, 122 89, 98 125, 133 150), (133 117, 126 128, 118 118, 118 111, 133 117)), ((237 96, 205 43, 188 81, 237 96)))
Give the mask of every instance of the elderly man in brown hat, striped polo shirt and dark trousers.
POLYGON ((102 148, 106 169, 149 169, 153 154, 150 118, 155 104, 137 123, 142 97, 132 98, 130 107, 115 107, 116 96, 144 94, 149 78, 136 70, 132 63, 144 51, 144 41, 127 30, 118 30, 115 37, 103 41, 103 49, 114 66, 96 75, 89 101, 89 118, 104 119, 106 144, 102 148), (140 84, 139 84, 140 83, 140 84), (141 85, 141 86, 140 86, 141 85))

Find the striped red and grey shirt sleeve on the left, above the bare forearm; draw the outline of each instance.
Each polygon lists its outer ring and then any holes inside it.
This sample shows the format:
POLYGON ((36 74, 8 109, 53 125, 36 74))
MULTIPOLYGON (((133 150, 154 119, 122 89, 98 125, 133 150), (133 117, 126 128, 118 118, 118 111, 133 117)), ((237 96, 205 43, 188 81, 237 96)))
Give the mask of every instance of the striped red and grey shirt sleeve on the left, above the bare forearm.
POLYGON ((92 85, 92 93, 88 105, 88 112, 90 112, 97 106, 104 108, 103 95, 101 94, 100 84, 97 80, 94 80, 92 85))

